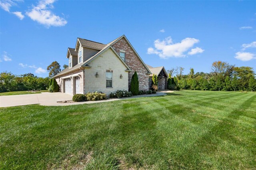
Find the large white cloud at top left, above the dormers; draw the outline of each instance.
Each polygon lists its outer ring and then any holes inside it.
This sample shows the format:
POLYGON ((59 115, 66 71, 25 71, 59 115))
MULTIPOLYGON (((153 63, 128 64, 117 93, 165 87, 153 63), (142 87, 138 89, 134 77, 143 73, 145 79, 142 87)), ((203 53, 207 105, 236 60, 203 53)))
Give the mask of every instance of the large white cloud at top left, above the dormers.
POLYGON ((50 26, 64 26, 67 21, 49 10, 49 8, 54 8, 52 5, 54 2, 55 0, 40 0, 37 6, 32 6, 32 10, 26 12, 26 15, 48 28, 50 26))

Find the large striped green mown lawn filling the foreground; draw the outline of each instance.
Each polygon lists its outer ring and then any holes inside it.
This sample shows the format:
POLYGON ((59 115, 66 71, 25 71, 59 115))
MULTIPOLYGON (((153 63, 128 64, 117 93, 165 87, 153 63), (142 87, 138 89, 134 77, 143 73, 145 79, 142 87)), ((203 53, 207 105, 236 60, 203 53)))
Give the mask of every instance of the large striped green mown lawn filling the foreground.
POLYGON ((0 109, 2 169, 255 169, 256 94, 0 109))

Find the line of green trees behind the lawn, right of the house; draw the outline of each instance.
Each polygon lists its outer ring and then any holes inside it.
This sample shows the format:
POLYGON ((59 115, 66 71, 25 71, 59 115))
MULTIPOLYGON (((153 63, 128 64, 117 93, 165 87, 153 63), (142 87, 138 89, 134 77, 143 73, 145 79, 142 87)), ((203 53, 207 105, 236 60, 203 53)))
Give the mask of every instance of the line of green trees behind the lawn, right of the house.
POLYGON ((236 67, 223 61, 212 63, 211 72, 197 72, 183 75, 184 68, 168 70, 168 89, 191 89, 211 91, 255 91, 256 78, 252 67, 236 67), (174 76, 174 77, 173 77, 174 76))

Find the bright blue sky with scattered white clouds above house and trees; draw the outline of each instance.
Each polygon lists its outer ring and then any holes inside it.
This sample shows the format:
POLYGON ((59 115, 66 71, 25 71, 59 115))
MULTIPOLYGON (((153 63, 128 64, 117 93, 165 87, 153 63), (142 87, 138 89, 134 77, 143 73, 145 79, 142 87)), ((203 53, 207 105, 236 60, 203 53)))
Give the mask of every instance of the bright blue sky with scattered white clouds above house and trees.
POLYGON ((0 72, 47 77, 84 38, 125 35, 142 60, 210 72, 214 61, 256 72, 256 1, 0 1, 0 72))

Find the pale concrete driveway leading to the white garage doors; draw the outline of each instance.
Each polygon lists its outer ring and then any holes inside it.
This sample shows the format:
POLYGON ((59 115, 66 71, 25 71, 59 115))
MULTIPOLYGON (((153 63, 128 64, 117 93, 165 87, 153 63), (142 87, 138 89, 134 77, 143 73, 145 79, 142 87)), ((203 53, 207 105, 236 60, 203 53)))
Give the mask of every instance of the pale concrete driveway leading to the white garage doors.
POLYGON ((72 95, 66 93, 39 93, 29 95, 10 95, 0 96, 0 107, 11 107, 21 105, 40 104, 45 106, 53 106, 57 101, 72 100, 72 95))

